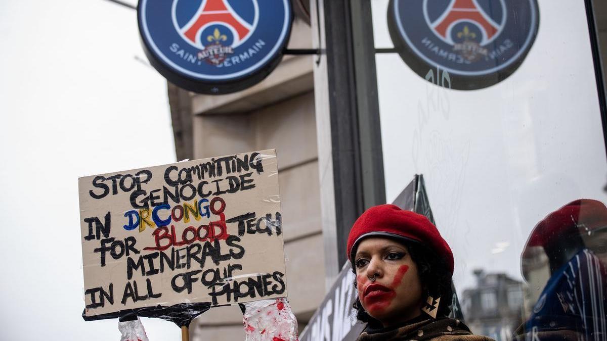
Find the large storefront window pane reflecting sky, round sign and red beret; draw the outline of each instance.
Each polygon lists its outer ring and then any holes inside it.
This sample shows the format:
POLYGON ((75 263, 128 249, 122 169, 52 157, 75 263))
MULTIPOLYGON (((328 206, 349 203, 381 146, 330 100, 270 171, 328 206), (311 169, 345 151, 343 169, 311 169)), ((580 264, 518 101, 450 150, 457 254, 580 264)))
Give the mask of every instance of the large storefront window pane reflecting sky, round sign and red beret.
POLYGON ((387 201, 424 175, 466 323, 498 340, 605 337, 607 157, 584 2, 372 5, 376 48, 398 50, 376 54, 387 201))

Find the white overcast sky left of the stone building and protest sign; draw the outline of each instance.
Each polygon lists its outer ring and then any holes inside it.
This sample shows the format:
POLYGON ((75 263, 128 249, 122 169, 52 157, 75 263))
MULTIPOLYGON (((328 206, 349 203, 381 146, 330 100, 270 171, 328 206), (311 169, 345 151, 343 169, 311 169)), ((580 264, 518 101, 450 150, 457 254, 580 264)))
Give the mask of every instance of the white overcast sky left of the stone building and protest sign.
POLYGON ((78 177, 175 161, 166 81, 135 59, 136 12, 104 0, 2 0, 0 49, 0 339, 120 340, 81 317, 78 177))

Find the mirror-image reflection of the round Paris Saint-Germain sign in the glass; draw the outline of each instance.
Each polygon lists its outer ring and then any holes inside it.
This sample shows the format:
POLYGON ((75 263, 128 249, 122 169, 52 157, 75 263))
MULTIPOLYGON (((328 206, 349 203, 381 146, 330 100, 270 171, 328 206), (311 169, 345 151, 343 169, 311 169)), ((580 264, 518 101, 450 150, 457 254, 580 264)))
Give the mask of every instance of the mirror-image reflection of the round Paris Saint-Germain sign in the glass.
POLYGON ((531 49, 536 0, 390 0, 388 29, 401 58, 426 78, 447 71, 451 88, 474 90, 510 76, 531 49))

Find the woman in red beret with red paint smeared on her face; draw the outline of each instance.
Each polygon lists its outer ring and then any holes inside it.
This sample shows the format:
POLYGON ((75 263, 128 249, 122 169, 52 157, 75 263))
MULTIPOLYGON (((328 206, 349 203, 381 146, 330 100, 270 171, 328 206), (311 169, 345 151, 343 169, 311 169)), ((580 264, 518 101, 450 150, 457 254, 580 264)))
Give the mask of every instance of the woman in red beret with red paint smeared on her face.
POLYGON ((356 274, 358 340, 491 340, 449 319, 453 254, 423 215, 384 204, 368 209, 348 236, 356 274))

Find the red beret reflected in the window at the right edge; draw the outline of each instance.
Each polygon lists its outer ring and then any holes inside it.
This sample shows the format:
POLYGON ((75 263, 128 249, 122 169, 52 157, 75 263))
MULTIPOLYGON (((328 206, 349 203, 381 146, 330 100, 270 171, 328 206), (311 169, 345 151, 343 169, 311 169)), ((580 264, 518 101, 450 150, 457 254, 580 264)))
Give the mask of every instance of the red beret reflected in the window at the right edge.
POLYGON ((605 204, 592 199, 571 201, 535 225, 525 249, 549 245, 575 234, 587 234, 602 226, 607 226, 605 204))

